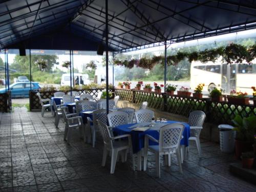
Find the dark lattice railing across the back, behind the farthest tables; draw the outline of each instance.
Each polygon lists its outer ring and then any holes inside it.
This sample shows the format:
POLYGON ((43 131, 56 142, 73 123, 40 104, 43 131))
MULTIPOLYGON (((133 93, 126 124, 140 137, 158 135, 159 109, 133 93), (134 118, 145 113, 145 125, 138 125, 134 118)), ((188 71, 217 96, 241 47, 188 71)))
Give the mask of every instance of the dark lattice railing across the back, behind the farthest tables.
MULTIPOLYGON (((104 89, 88 89, 88 90, 76 90, 79 95, 84 94, 84 93, 89 93, 91 94, 93 97, 97 97, 98 93, 103 91, 104 89)), ((114 90, 109 90, 110 92, 114 92, 114 90)), ((30 111, 32 110, 39 110, 41 109, 41 104, 39 101, 38 96, 36 95, 38 91, 30 91, 29 92, 29 108, 30 111)), ((57 92, 57 91, 44 91, 41 92, 40 91, 40 95, 42 99, 47 99, 47 98, 52 98, 53 94, 57 92)), ((114 96, 114 95, 113 95, 114 96)))

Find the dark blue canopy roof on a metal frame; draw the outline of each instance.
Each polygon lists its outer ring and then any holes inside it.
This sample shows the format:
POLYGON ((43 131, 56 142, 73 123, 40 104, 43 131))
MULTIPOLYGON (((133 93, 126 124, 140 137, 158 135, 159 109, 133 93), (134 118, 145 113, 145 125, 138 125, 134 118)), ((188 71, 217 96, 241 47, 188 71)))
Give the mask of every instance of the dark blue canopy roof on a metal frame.
MULTIPOLYGON (((110 0, 108 18, 111 50, 132 51, 255 28, 256 1, 110 0)), ((95 51, 104 34, 104 0, 0 1, 0 49, 95 51)))

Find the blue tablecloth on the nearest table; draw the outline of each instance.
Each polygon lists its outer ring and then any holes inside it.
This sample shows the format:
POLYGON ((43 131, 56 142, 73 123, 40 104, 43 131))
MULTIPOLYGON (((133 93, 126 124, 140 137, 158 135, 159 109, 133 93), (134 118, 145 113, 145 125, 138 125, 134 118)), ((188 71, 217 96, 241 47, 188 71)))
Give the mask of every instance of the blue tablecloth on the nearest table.
MULTIPOLYGON (((188 138, 190 137, 190 127, 189 124, 179 122, 179 121, 167 121, 167 123, 182 123, 185 125, 185 129, 182 133, 183 139, 181 139, 180 144, 188 146, 188 138)), ((119 125, 114 129, 114 132, 116 132, 118 135, 124 135, 124 134, 130 134, 132 137, 132 144, 133 144, 133 153, 138 153, 141 148, 144 147, 144 136, 145 134, 150 135, 154 137, 155 139, 159 139, 159 132, 155 130, 147 130, 145 132, 138 132, 138 131, 131 131, 128 127, 134 125, 136 123, 132 124, 125 124, 125 125, 119 125)), ((157 145, 158 143, 150 141, 150 145, 157 145)))

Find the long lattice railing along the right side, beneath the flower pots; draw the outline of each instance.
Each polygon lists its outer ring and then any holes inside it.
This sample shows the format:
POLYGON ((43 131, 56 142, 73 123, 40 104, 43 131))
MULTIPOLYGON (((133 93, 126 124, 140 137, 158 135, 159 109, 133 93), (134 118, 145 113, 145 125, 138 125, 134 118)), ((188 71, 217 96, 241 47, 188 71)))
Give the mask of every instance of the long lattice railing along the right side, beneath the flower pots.
POLYGON ((124 89, 115 89, 115 95, 119 95, 122 100, 137 104, 147 101, 150 108, 187 117, 191 111, 204 111, 207 117, 206 120, 214 123, 231 123, 231 120, 237 114, 242 117, 256 115, 256 108, 252 104, 241 105, 226 101, 212 102, 209 98, 169 96, 165 93, 157 94, 155 92, 148 93, 124 89))

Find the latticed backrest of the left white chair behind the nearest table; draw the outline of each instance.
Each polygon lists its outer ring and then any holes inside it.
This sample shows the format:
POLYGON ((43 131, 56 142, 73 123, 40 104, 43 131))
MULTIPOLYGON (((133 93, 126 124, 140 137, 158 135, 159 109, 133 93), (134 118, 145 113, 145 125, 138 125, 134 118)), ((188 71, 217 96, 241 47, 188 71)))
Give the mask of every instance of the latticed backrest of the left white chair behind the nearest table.
POLYGON ((108 115, 109 125, 116 127, 122 124, 128 124, 128 115, 125 112, 116 111, 109 113, 108 115))

